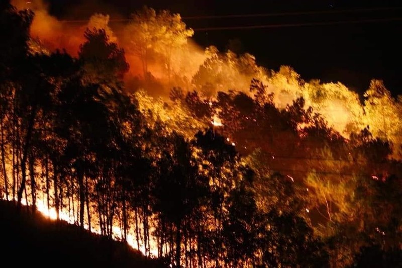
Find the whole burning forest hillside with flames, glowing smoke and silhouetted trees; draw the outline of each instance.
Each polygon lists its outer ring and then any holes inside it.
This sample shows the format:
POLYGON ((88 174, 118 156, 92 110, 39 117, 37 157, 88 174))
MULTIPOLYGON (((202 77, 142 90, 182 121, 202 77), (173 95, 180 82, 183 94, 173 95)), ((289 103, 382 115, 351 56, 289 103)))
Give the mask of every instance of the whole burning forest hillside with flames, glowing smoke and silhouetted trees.
POLYGON ((346 267, 367 247, 400 251, 402 98, 382 81, 361 102, 201 49, 167 10, 71 24, 12 4, 0 5, 3 199, 175 267, 346 267))

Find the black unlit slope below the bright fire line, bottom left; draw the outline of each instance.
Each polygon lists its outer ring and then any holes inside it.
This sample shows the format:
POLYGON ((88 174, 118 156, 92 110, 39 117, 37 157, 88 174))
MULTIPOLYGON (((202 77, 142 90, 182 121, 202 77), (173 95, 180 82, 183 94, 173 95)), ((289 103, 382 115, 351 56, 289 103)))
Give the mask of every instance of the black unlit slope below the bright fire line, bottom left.
MULTIPOLYGON (((165 267, 122 242, 106 239, 66 222, 32 215, 23 207, 20 215, 12 202, 0 201, 3 256, 16 256, 15 264, 91 267, 165 267)), ((11 263, 11 262, 9 262, 11 263)))

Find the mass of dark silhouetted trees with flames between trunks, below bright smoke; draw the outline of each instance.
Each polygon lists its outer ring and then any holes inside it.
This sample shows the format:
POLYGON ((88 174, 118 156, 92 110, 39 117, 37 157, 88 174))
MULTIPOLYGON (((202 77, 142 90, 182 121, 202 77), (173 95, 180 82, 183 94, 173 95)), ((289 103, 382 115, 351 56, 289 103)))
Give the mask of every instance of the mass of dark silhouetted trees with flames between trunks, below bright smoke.
POLYGON ((215 98, 174 88, 152 109, 124 87, 105 30, 87 29, 78 58, 33 53, 34 15, 0 7, 0 193, 20 210, 53 209, 176 267, 402 263, 388 140, 345 138, 303 98, 279 109, 256 79, 215 98))

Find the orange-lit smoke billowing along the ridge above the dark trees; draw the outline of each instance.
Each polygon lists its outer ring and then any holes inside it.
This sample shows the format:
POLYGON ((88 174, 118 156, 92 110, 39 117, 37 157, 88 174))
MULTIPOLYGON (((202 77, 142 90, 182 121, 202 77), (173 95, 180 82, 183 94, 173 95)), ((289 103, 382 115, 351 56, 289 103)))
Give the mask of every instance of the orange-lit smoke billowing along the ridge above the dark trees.
MULTIPOLYGON (((125 76, 128 91, 145 89, 149 95, 165 100, 173 87, 181 87, 184 91, 197 90, 209 99, 214 98, 219 91, 229 90, 243 91, 251 95, 250 81, 256 78, 266 86, 267 94, 274 93, 277 107, 284 109, 296 98, 303 97, 306 108, 312 107, 314 112, 320 113, 330 126, 345 137, 348 137, 351 130, 362 129, 365 126, 362 122, 367 121, 363 118, 365 107, 361 104, 358 94, 341 83, 321 83, 318 80, 306 82, 288 66, 282 66, 278 71, 268 70, 258 66, 251 54, 238 55, 229 50, 219 52, 213 46, 202 48, 191 39, 192 31, 184 34, 184 37, 167 35, 165 29, 170 26, 163 25, 166 23, 166 17, 163 17, 166 14, 173 16, 176 20, 174 23, 185 29, 185 24, 181 24, 178 14, 153 11, 155 14, 161 14, 160 21, 151 18, 147 26, 137 21, 136 27, 132 27, 132 21, 111 22, 109 15, 99 13, 99 9, 108 9, 106 6, 89 9, 88 5, 95 6, 94 3, 83 4, 86 5, 86 13, 93 10, 93 14, 83 22, 64 21, 51 16, 48 6, 42 1, 29 3, 25 0, 13 0, 12 4, 19 9, 29 8, 34 11, 31 37, 51 51, 65 49, 69 54, 77 56, 80 44, 85 42, 84 32, 87 28, 105 29, 110 41, 116 42, 125 50, 126 60, 130 65, 130 70, 125 76), (145 27, 145 31, 154 31, 148 32, 148 37, 153 43, 145 42, 144 33, 138 31, 138 27, 145 27), (154 40, 157 35, 164 38, 159 43, 154 40), (175 38, 178 38, 178 41, 175 38), (141 43, 142 41, 145 43, 141 43), (179 45, 172 45, 174 42, 179 45), (147 48, 146 54, 141 52, 141 45, 147 48)), ((79 9, 76 7, 72 12, 76 10, 79 9)), ((111 12, 114 19, 123 18, 116 12, 111 12)), ((146 12, 151 15, 145 13, 144 18, 152 17, 152 10, 146 12)), ((76 15, 70 17, 77 18, 76 15)), ((236 46, 232 44, 228 48, 232 47, 236 46)))

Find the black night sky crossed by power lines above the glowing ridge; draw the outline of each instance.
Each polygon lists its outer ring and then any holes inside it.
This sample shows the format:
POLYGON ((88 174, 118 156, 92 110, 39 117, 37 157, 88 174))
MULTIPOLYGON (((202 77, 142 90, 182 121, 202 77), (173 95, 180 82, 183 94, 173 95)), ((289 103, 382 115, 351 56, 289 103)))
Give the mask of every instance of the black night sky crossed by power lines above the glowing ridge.
POLYGON ((184 19, 189 27, 216 28, 232 26, 296 24, 294 27, 241 30, 196 31, 194 39, 203 46, 225 49, 231 39, 241 40, 243 51, 256 56, 258 63, 278 69, 290 65, 306 80, 341 81, 363 92, 371 78, 383 79, 395 95, 402 94, 402 4, 399 1, 129 1, 129 0, 49 0, 51 12, 68 19, 85 19, 94 12, 128 16, 142 5, 169 9, 182 17, 315 11, 305 15, 257 18, 184 19), (230 3, 230 4, 229 4, 230 3), (384 9, 389 8, 389 9, 384 9), (74 15, 71 15, 74 9, 74 15), (362 9, 372 9, 362 11, 362 9), (337 12, 348 10, 349 12, 337 12), (113 12, 112 12, 113 11, 113 12), (320 13, 332 11, 334 13, 320 13), (74 18, 73 18, 74 17, 74 18), (339 21, 399 21, 343 23, 302 26, 305 23, 339 21))

